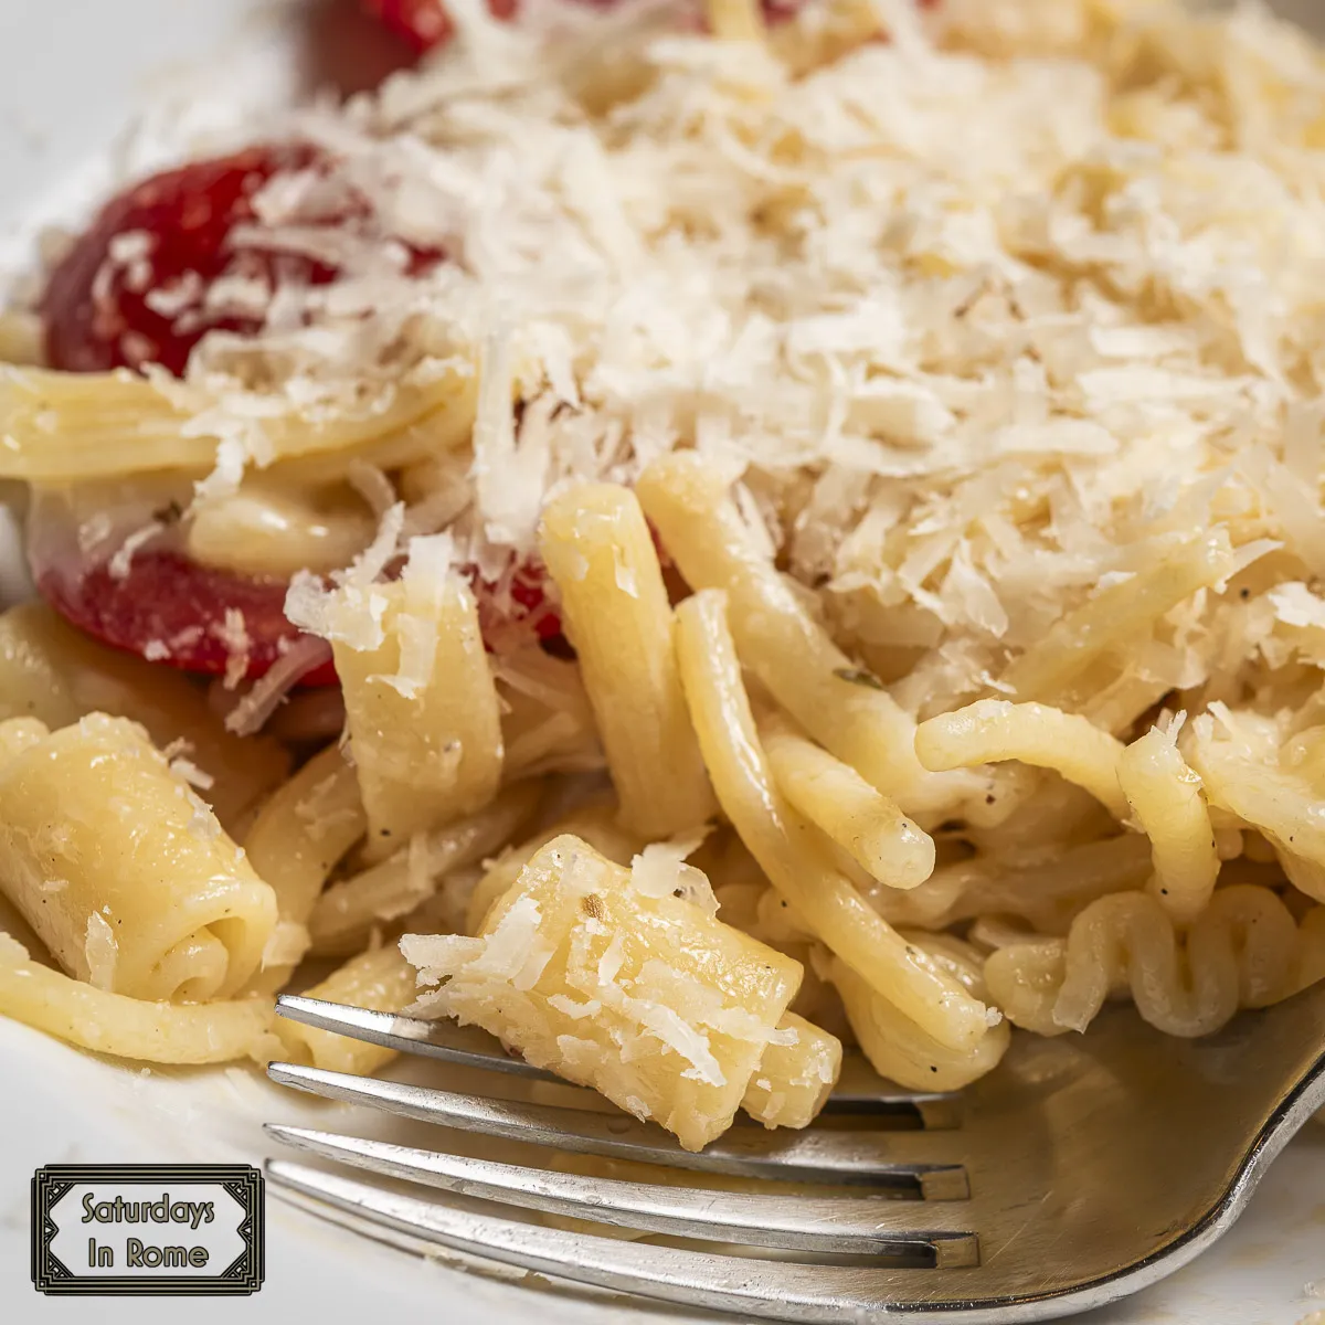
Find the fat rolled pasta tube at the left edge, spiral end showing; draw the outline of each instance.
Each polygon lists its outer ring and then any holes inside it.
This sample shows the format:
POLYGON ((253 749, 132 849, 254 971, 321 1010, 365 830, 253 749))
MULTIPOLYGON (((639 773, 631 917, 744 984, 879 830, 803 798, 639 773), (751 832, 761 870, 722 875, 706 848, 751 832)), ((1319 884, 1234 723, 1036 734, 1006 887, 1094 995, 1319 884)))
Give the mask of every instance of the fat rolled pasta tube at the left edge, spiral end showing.
POLYGON ((277 924, 254 873, 142 727, 0 723, 0 888, 98 988, 201 1002, 241 990, 277 924))

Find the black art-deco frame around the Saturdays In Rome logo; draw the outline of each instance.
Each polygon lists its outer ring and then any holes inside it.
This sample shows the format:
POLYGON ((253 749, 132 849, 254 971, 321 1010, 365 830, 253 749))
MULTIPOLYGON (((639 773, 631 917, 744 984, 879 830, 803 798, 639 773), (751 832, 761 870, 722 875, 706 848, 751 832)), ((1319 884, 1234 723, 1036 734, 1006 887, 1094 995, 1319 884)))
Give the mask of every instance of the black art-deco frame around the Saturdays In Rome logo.
POLYGON ((265 1185, 249 1165, 69 1165, 32 1175, 32 1283, 48 1296, 83 1297, 240 1297, 256 1293, 266 1275, 265 1185), (244 1251, 216 1275, 98 1275, 80 1277, 50 1249, 58 1226, 52 1210, 77 1183, 208 1183, 238 1202, 244 1251))

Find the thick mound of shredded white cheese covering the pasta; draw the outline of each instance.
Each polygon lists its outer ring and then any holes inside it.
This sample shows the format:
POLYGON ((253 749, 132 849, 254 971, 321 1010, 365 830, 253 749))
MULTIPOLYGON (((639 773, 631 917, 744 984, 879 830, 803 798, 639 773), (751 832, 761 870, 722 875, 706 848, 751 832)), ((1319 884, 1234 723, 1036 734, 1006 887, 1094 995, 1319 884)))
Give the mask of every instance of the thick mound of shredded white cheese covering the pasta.
MULTIPOLYGON (((159 383, 217 400, 191 424, 221 439, 207 496, 264 462, 280 409, 387 408, 477 366, 472 454, 421 443, 405 509, 348 465, 379 537, 292 587, 303 628, 374 647, 372 583, 441 525, 507 598, 549 493, 677 445, 738 480, 754 543, 878 674, 910 673, 917 713, 996 689, 1166 531, 1325 576, 1325 74, 1296 30, 1169 0, 822 0, 765 33, 722 0, 716 41, 647 0, 526 8, 456 5, 439 58, 294 115, 341 166, 276 176, 248 237, 341 280, 282 286, 262 335, 209 335, 159 383), (380 235, 314 224, 351 189, 448 261, 411 276, 380 235)), ((1136 641, 1175 649, 1153 674, 1227 670, 1222 592, 1181 647, 1169 619, 1136 641)))

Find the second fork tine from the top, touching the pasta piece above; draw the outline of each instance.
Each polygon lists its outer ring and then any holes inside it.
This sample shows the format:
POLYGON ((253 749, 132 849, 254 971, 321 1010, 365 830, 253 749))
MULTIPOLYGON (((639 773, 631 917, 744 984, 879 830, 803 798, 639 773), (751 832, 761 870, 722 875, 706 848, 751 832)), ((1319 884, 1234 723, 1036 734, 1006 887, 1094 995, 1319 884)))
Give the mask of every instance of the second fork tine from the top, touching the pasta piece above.
POLYGON ((464 1132, 481 1132, 507 1141, 523 1141, 616 1155, 681 1169, 708 1169, 751 1178, 868 1186, 929 1200, 962 1200, 970 1195, 966 1169, 958 1163, 898 1163, 882 1136, 852 1132, 774 1133, 733 1129, 705 1150, 682 1150, 660 1128, 627 1114, 591 1113, 555 1105, 489 1100, 379 1081, 344 1072, 272 1063, 268 1075, 281 1085, 348 1104, 386 1109, 420 1122, 436 1122, 464 1132))

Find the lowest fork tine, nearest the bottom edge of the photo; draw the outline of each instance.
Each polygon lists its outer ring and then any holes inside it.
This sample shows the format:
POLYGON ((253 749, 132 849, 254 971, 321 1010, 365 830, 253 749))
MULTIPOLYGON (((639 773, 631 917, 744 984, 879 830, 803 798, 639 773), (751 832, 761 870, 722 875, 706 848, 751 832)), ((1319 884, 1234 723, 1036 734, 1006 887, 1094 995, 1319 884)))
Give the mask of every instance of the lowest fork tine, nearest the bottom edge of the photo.
MULTIPOLYGON (((806 1265, 563 1232, 382 1191, 281 1159, 269 1159, 266 1173, 273 1189, 293 1203, 395 1246, 419 1251, 423 1240, 555 1279, 746 1318, 802 1325, 844 1325, 885 1316, 889 1321, 920 1321, 930 1318, 935 1300, 950 1298, 957 1287, 946 1269, 806 1265)), ((979 1309, 966 1313, 974 1305, 969 1293, 961 1304, 963 1320, 970 1325, 990 1320, 979 1309)), ((1041 1309, 1020 1318, 1051 1313, 1052 1308, 1041 1309)))

